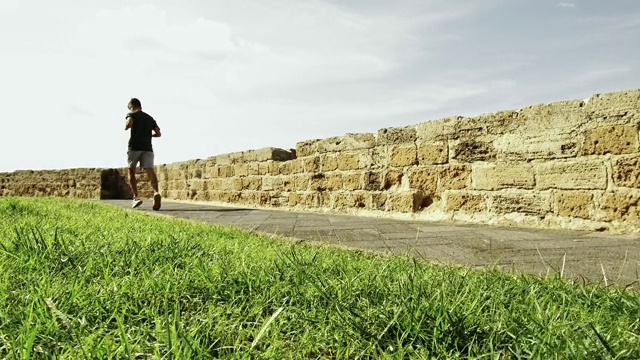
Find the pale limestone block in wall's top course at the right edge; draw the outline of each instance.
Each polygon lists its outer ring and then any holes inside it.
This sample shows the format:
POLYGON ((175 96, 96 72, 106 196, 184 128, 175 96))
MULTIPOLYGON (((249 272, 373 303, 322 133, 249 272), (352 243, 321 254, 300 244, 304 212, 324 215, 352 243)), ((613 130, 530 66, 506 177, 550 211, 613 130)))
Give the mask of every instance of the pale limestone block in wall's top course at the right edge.
POLYGON ((585 106, 592 121, 600 124, 637 124, 640 122, 640 89, 595 94, 585 106))

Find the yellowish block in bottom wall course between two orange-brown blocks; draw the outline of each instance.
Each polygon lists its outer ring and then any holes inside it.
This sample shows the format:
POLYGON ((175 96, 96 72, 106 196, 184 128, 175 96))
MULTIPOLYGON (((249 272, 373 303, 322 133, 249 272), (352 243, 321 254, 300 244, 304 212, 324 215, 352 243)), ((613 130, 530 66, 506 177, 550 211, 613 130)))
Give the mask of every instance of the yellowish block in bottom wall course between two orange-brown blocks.
POLYGON ((545 215, 551 212, 550 199, 550 194, 546 192, 494 193, 491 196, 491 211, 499 214, 545 215))

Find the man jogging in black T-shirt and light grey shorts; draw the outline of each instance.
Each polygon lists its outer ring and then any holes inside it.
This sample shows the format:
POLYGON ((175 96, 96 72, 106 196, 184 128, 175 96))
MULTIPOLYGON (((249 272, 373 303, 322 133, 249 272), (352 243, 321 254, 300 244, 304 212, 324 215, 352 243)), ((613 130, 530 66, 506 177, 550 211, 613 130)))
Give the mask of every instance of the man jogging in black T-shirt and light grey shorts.
POLYGON ((153 188, 153 210, 160 210, 162 197, 158 192, 158 178, 153 168, 153 147, 152 137, 160 137, 160 128, 156 121, 149 114, 142 111, 140 100, 132 98, 127 105, 129 113, 126 116, 125 131, 131 129, 129 138, 129 151, 127 157, 129 162, 129 181, 133 192, 132 208, 142 205, 142 200, 138 197, 138 186, 136 181, 136 167, 140 163, 149 176, 149 182, 153 188))

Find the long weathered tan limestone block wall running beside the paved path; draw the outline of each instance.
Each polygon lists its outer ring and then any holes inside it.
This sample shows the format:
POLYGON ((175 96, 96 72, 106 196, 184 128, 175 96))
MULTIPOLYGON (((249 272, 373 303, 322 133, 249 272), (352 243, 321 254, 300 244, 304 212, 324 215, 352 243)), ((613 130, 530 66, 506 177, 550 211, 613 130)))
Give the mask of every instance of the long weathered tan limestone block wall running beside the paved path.
MULTIPOLYGON (((639 124, 640 89, 308 140, 295 150, 223 154, 157 172, 163 196, 176 200, 640 232, 639 124)), ((118 179, 99 196, 125 197, 113 190, 126 188, 118 179)), ((47 193, 37 177, 30 181, 47 193)), ((140 189, 150 196, 148 184, 140 189)))

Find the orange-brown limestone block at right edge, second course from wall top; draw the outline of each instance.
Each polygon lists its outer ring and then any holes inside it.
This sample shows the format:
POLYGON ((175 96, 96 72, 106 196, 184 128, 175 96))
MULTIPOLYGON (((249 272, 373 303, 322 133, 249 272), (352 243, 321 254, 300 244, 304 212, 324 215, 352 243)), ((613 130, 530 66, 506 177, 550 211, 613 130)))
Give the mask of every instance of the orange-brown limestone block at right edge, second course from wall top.
POLYGON ((637 125, 600 126, 587 130, 582 155, 630 154, 638 152, 637 125))

